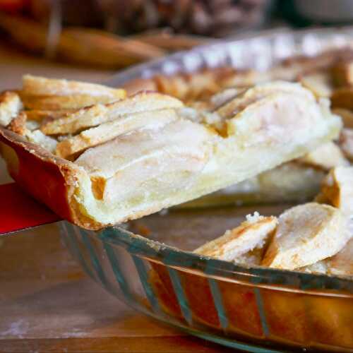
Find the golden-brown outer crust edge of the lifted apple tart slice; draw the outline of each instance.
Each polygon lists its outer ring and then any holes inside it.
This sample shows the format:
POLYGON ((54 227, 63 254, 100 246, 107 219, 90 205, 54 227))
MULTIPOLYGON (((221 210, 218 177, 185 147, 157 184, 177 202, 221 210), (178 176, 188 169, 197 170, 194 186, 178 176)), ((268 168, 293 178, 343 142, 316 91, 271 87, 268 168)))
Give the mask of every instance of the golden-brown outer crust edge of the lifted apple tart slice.
POLYGON ((76 207, 74 193, 81 171, 75 164, 55 157, 39 145, 1 127, 0 141, 1 145, 6 145, 1 148, 1 155, 8 164, 11 177, 25 191, 80 227, 102 227, 85 217, 76 207))

